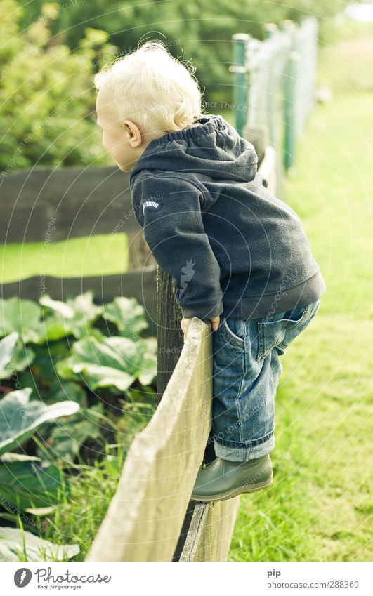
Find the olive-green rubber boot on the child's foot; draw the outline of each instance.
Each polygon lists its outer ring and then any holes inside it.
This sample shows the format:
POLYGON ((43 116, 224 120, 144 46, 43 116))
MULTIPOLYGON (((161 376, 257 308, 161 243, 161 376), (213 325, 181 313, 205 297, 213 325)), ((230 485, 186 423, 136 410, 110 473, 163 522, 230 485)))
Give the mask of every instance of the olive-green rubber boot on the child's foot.
POLYGON ((197 474, 190 499, 209 503, 266 489, 273 482, 269 454, 249 461, 216 458, 197 474))

